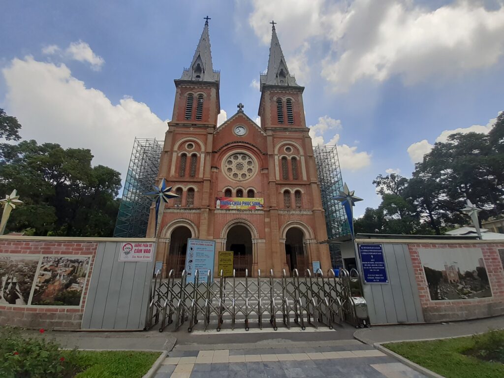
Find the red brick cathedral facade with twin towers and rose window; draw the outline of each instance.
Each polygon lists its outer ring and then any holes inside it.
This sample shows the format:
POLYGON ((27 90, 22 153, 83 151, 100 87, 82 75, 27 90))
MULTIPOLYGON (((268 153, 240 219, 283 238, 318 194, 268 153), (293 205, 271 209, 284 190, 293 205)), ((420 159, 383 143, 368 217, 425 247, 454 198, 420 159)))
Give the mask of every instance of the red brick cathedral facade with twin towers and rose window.
MULTIPOLYGON (((220 73, 213 70, 208 20, 190 68, 175 80, 158 179, 180 197, 160 212, 156 261, 163 276, 185 266, 187 238, 232 250, 237 277, 331 268, 320 186, 302 93, 273 24, 268 71, 260 77, 261 125, 238 104, 221 125, 220 73)), ((147 236, 154 236, 154 209, 147 236)))

